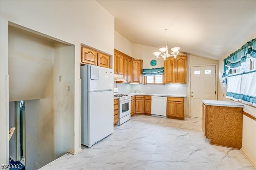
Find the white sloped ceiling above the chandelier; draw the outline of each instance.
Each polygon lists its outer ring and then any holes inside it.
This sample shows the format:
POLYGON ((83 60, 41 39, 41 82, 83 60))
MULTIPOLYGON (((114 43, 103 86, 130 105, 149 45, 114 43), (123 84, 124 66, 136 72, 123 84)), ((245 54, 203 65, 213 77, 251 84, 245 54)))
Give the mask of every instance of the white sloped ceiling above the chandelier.
MULTIPOLYGON (((97 0, 132 43, 219 60, 256 37, 256 0, 97 0)), ((153 55, 153 54, 152 54, 153 55)))

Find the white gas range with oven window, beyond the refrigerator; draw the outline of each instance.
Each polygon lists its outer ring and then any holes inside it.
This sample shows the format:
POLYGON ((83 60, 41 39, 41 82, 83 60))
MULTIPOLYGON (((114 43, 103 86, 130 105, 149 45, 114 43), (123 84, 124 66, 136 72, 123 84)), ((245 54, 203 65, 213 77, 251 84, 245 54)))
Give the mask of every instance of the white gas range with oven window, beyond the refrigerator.
POLYGON ((131 119, 131 96, 118 94, 118 88, 114 88, 114 97, 119 98, 119 120, 116 125, 122 125, 131 119))

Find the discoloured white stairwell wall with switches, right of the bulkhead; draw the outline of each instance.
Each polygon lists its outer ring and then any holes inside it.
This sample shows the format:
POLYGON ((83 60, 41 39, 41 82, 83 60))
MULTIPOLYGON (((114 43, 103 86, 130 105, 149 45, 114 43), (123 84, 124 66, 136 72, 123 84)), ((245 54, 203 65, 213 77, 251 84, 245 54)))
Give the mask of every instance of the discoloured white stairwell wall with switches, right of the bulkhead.
POLYGON ((25 103, 28 169, 34 169, 34 162, 48 164, 74 145, 74 115, 70 114, 74 111, 74 46, 56 42, 54 51, 54 67, 42 99, 25 103))

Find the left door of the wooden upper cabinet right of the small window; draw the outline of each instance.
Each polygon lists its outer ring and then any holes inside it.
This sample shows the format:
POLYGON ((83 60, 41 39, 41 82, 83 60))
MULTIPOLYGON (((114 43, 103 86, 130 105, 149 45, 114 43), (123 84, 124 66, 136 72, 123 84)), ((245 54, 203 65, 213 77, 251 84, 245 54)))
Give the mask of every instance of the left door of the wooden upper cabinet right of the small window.
POLYGON ((175 59, 172 57, 167 58, 164 61, 164 76, 165 83, 175 83, 174 72, 175 72, 175 59))

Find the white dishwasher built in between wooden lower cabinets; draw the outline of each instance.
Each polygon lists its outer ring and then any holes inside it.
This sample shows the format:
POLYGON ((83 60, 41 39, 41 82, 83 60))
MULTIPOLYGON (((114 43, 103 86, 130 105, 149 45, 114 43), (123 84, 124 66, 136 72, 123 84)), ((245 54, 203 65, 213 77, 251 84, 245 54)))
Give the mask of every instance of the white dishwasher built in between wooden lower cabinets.
POLYGON ((151 97, 151 116, 166 118, 167 97, 152 96, 151 97))

